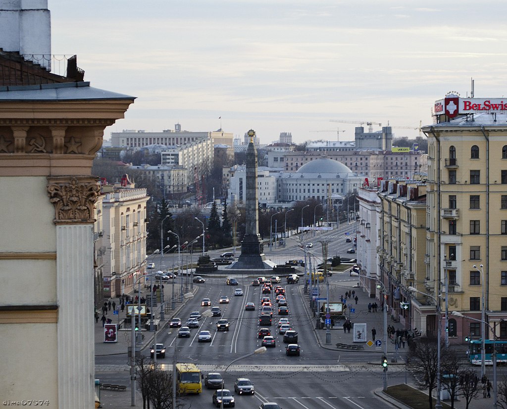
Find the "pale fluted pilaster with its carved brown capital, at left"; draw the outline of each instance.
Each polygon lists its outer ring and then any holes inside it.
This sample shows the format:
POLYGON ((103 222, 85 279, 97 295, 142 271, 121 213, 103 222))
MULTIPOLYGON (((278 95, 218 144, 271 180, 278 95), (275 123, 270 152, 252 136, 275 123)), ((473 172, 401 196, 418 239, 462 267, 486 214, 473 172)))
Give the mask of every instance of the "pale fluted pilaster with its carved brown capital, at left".
POLYGON ((56 299, 58 304, 58 407, 85 409, 93 399, 94 177, 48 177, 55 208, 56 299))

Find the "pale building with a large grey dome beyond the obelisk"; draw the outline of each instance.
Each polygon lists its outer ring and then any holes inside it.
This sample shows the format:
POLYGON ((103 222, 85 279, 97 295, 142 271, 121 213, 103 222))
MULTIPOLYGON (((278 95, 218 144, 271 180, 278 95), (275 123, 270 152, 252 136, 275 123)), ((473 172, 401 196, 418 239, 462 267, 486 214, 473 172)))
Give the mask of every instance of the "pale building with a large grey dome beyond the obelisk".
POLYGON ((287 172, 278 179, 279 201, 327 200, 328 195, 346 196, 357 191, 365 177, 353 173, 337 160, 320 158, 301 166, 296 172, 287 172))

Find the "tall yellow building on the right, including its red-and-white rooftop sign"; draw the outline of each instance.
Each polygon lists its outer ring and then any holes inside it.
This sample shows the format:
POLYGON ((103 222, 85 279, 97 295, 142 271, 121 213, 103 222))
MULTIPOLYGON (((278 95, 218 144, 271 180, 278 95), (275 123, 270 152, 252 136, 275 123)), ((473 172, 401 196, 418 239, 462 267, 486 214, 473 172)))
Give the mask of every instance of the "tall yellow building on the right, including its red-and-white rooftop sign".
POLYGON ((417 288, 429 296, 417 294, 412 302, 413 326, 435 331, 431 297, 442 299, 442 333, 450 344, 481 336, 481 323, 451 313, 480 320, 483 290, 485 320, 495 332, 486 329, 486 338, 507 338, 507 322, 501 322, 507 319, 505 108, 499 98, 448 95, 435 104, 437 123, 423 127, 428 138, 427 272, 417 288))

